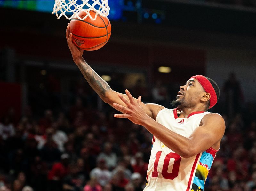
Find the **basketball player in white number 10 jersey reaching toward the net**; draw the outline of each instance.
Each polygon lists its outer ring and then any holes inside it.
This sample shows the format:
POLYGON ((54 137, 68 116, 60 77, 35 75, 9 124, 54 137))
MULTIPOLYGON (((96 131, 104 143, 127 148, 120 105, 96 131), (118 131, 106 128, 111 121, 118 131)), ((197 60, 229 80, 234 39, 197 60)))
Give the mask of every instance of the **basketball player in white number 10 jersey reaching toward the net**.
POLYGON ((123 113, 114 117, 128 118, 153 134, 148 183, 144 190, 203 191, 225 131, 223 118, 207 112, 219 98, 217 84, 196 75, 180 86, 172 102, 176 109, 144 104, 141 96, 135 99, 128 90, 126 95, 112 90, 92 70, 82 57, 83 50, 72 43, 69 26, 66 38, 73 60, 90 86, 104 102, 123 113))

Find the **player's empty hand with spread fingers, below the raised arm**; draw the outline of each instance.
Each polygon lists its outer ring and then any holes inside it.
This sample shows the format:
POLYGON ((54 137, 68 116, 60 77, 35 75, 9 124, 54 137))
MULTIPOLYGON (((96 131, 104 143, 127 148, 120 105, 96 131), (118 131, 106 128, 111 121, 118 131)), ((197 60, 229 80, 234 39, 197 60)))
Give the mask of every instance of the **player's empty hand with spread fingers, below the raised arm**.
POLYGON ((128 118, 133 123, 142 125, 143 122, 150 117, 146 114, 146 112, 141 107, 142 105, 141 96, 138 98, 138 101, 136 103, 136 101, 134 101, 132 95, 127 89, 125 90, 125 93, 128 96, 129 101, 125 99, 124 96, 122 96, 121 94, 118 94, 118 97, 125 103, 127 107, 124 107, 117 103, 113 103, 113 106, 123 111, 124 114, 115 114, 114 117, 128 118))

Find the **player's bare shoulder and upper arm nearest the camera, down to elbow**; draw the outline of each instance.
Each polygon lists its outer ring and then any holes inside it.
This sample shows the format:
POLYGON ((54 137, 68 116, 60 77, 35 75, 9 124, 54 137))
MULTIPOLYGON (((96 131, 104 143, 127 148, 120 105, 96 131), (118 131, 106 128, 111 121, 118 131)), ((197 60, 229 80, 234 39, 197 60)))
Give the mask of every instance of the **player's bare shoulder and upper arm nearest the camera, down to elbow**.
POLYGON ((190 135, 187 157, 194 156, 220 142, 225 132, 225 121, 219 114, 207 114, 201 126, 190 135))

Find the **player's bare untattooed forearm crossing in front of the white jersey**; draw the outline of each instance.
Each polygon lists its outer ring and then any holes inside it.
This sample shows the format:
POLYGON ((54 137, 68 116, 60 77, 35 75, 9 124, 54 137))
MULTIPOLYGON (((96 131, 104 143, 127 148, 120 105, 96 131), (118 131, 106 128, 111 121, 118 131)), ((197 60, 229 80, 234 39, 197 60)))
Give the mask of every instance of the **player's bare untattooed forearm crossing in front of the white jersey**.
POLYGON ((188 158, 193 155, 191 152, 190 140, 181 136, 160 123, 156 122, 152 118, 148 118, 143 121, 143 125, 150 133, 152 133, 157 139, 159 139, 166 147, 172 149, 175 153, 181 157, 188 158))

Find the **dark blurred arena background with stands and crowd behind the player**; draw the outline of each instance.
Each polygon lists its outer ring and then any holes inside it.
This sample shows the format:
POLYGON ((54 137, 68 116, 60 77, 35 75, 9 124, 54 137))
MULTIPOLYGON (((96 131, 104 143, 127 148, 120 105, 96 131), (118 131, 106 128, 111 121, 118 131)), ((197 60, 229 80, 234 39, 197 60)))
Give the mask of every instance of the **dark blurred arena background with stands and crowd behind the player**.
MULTIPOLYGON (((168 108, 192 75, 215 80, 226 133, 204 190, 256 190, 256 1, 108 1, 110 40, 84 59, 168 108)), ((53 4, 0 1, 0 190, 142 190, 152 135, 89 87, 53 4)))

